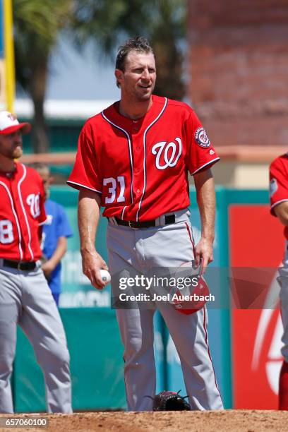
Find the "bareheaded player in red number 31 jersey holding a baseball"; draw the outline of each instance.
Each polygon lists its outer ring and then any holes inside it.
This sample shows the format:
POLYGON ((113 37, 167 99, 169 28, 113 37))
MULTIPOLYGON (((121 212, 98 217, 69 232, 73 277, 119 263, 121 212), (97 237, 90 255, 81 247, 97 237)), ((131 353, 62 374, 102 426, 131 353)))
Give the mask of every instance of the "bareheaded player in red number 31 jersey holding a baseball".
MULTIPOLYGON (((109 220, 107 248, 112 290, 118 279, 153 268, 178 268, 196 258, 212 261, 215 191, 210 167, 219 157, 187 104, 152 95, 155 58, 147 40, 120 47, 115 70, 121 100, 89 119, 80 133, 68 184, 78 188, 78 224, 83 271, 104 287, 107 264, 95 250, 100 217, 109 220), (202 221, 195 248, 189 221, 188 172, 193 174, 202 221)), ((160 310, 181 359, 192 409, 222 409, 207 335, 207 312, 184 315, 169 302, 147 308, 117 308, 124 343, 128 410, 149 411, 155 395, 153 316, 160 310)))

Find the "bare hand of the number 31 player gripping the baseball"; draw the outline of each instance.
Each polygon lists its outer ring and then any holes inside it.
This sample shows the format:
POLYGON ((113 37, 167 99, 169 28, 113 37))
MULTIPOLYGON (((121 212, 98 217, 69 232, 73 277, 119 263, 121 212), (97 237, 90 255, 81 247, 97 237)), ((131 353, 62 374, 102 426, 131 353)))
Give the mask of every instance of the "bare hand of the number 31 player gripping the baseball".
POLYGON ((102 281, 100 270, 108 270, 108 266, 97 251, 81 251, 82 268, 93 287, 103 289, 105 282, 102 281))

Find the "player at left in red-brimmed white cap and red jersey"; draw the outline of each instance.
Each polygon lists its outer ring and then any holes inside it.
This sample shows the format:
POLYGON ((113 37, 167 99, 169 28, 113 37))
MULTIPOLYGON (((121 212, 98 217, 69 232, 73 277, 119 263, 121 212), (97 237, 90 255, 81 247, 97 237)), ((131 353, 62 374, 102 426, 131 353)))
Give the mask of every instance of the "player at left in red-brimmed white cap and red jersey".
POLYGON ((47 411, 68 413, 66 336, 40 263, 43 183, 35 169, 14 162, 23 153, 21 133, 29 131, 30 124, 0 112, 0 412, 13 413, 10 377, 19 324, 44 373, 47 411))

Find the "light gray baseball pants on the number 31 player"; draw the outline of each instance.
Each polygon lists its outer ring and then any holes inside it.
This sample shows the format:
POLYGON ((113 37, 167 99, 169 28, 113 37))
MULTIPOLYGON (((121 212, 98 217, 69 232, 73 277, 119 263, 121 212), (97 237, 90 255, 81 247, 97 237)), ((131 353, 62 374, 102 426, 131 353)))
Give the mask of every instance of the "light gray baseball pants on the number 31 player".
MULTIPOLYGON (((152 269, 178 268, 193 259, 189 212, 177 212, 175 224, 148 229, 131 229, 109 222, 107 247, 112 291, 116 296, 119 294, 119 277, 136 273, 151 275, 152 269)), ((145 396, 155 396, 153 316, 156 308, 160 310, 179 354, 191 409, 223 409, 208 347, 206 309, 184 315, 169 302, 156 301, 155 307, 150 303, 148 308, 116 310, 124 344, 128 410, 152 410, 152 400, 145 396)))

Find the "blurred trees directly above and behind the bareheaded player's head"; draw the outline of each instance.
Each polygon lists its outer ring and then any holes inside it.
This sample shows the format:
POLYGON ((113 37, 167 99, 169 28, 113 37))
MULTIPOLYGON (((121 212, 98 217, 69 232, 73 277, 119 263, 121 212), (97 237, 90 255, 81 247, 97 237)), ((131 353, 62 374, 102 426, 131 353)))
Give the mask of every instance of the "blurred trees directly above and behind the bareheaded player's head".
POLYGON ((186 0, 76 0, 73 7, 71 27, 79 48, 94 41, 114 60, 116 43, 128 35, 148 37, 157 59, 155 92, 183 99, 186 0))

